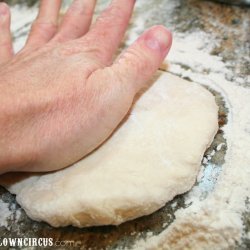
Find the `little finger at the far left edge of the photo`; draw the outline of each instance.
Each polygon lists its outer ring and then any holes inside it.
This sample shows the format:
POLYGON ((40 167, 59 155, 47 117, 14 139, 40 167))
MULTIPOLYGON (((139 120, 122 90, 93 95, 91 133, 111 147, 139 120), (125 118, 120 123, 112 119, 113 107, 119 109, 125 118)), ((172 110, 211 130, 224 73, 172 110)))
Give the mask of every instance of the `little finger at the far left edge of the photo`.
POLYGON ((0 3, 0 64, 13 56, 10 32, 10 10, 6 3, 0 3))

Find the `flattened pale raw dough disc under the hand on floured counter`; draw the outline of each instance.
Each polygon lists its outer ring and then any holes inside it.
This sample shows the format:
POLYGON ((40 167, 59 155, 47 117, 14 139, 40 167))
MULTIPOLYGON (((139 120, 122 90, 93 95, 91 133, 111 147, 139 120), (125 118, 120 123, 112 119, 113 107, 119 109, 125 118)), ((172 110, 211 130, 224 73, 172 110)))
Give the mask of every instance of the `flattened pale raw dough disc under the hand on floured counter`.
POLYGON ((80 162, 1 178, 29 217, 55 227, 117 225, 192 187, 218 129, 218 107, 198 84, 168 73, 157 78, 112 137, 80 162))

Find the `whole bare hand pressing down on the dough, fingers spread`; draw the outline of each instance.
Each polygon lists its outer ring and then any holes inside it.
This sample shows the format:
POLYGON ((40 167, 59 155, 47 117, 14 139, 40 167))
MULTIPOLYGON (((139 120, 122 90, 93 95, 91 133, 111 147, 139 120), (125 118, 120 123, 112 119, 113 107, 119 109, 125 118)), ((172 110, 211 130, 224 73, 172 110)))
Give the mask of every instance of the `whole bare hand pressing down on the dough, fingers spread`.
POLYGON ((0 3, 0 173, 67 167, 105 141, 171 47, 155 26, 114 62, 135 0, 113 0, 90 27, 95 0, 41 0, 14 55, 10 11, 0 3))

